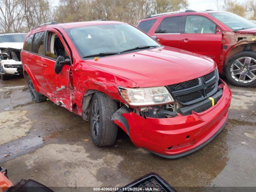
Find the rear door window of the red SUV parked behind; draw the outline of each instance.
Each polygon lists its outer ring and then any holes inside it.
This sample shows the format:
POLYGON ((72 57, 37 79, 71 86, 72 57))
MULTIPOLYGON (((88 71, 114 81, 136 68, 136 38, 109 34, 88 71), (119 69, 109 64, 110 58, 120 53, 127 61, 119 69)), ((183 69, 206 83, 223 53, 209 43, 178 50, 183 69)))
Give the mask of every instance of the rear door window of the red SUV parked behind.
POLYGON ((182 16, 165 18, 158 26, 156 33, 180 33, 182 16))

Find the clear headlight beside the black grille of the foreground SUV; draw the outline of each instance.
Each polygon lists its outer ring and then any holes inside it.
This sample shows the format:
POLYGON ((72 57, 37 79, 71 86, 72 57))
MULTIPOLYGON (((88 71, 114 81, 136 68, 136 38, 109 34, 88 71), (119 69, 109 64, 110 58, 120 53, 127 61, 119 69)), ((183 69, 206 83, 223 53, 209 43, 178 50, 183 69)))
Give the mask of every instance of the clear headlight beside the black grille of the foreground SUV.
POLYGON ((150 106, 174 102, 166 87, 123 88, 118 87, 120 95, 132 106, 150 106))

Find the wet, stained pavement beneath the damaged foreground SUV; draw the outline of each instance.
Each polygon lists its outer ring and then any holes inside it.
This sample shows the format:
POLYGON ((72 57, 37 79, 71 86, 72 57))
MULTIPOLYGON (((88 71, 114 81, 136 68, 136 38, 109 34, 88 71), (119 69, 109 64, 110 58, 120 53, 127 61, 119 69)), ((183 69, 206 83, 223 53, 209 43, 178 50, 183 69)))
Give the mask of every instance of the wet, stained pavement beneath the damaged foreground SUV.
POLYGON ((223 131, 197 152, 168 160, 137 148, 122 130, 113 146, 96 147, 81 117, 51 101, 32 102, 23 78, 0 81, 0 164, 13 183, 32 178, 60 191, 124 186, 148 172, 174 187, 256 186, 256 88, 230 88, 223 131))

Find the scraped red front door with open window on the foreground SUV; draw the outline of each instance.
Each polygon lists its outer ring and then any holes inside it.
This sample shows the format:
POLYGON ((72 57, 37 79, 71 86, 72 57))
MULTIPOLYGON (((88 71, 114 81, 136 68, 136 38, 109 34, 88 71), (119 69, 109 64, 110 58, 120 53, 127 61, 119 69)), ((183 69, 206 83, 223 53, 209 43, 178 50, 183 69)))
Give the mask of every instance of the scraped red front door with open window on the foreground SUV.
POLYGON ((46 32, 45 58, 42 65, 43 77, 47 89, 47 97, 57 105, 72 111, 74 104, 74 87, 70 65, 64 65, 61 72, 56 74, 54 65, 58 56, 70 58, 70 51, 62 35, 54 28, 46 32))

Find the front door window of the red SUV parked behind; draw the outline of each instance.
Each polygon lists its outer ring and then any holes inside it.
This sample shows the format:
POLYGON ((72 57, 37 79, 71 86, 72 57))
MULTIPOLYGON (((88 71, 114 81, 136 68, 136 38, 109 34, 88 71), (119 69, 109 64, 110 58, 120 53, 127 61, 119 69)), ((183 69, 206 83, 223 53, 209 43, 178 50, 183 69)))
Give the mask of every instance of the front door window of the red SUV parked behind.
POLYGON ((185 33, 212 33, 215 34, 216 25, 202 16, 187 16, 185 33))

